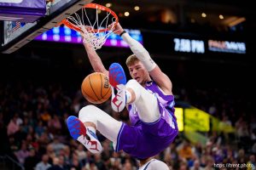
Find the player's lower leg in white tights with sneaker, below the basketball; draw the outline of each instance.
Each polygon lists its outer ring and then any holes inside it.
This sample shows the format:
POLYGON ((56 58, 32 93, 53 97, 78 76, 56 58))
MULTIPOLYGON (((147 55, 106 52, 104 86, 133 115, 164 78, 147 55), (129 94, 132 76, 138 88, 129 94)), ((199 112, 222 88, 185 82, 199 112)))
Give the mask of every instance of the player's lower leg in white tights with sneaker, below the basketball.
POLYGON ((122 122, 116 121, 94 105, 82 108, 79 111, 79 118, 70 116, 67 119, 67 127, 73 139, 79 140, 92 153, 99 153, 102 150, 102 145, 96 137, 96 130, 115 144, 121 126, 122 122))

